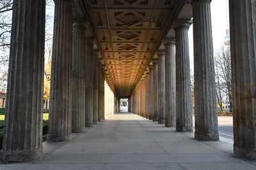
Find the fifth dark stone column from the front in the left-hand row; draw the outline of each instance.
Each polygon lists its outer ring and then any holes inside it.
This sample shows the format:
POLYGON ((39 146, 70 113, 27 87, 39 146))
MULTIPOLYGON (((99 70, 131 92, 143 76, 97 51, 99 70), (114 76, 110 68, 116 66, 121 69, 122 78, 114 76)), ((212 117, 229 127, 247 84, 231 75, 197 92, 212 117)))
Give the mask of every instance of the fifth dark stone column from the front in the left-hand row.
POLYGON ((98 98, 98 88, 99 88, 99 72, 98 72, 98 56, 99 50, 93 50, 93 91, 94 91, 94 111, 93 111, 93 124, 97 124, 99 122, 99 113, 98 113, 98 106, 99 106, 99 98, 98 98))

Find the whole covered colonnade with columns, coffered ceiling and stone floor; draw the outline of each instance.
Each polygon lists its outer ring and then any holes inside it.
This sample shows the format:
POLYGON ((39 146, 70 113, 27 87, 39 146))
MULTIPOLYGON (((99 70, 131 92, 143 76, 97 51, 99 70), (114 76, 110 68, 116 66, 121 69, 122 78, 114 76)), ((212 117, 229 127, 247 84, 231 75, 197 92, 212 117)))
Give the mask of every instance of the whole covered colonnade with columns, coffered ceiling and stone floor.
POLYGON ((255 0, 230 0, 234 146, 218 142, 211 0, 54 4, 49 128, 43 145, 45 0, 13 1, 2 162, 250 168, 231 153, 256 159, 255 0), (121 98, 136 115, 113 115, 120 111, 121 98))

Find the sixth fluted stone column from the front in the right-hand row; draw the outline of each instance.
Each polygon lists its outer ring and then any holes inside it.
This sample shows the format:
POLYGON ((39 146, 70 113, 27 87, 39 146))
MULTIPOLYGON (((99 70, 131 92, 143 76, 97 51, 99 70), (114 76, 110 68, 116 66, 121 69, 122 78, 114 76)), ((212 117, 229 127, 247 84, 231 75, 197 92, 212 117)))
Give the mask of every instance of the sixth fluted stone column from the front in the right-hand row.
POLYGON ((157 59, 153 60, 153 122, 158 121, 158 63, 157 59))

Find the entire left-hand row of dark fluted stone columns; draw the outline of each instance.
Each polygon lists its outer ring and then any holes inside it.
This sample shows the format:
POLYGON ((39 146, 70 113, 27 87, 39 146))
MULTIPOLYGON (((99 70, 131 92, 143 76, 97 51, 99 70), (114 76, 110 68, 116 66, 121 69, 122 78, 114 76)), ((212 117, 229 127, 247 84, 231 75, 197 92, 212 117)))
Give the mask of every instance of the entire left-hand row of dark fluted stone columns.
MULTIPOLYGON (((72 1, 54 3, 47 141, 57 142, 71 140, 72 132, 85 132, 104 119, 104 72, 93 39, 86 39, 84 18, 72 19, 72 1)), ((4 162, 42 157, 44 28, 43 0, 13 1, 4 162)))

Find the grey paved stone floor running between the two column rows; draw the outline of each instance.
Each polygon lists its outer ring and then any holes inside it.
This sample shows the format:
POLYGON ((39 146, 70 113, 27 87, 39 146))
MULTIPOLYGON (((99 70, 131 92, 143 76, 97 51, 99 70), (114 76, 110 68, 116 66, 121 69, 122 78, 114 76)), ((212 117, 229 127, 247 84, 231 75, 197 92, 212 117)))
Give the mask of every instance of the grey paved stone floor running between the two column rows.
POLYGON ((256 169, 237 159, 232 144, 198 142, 193 133, 175 132, 132 113, 118 113, 73 134, 70 142, 44 143, 44 158, 0 169, 256 169))

